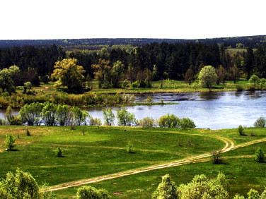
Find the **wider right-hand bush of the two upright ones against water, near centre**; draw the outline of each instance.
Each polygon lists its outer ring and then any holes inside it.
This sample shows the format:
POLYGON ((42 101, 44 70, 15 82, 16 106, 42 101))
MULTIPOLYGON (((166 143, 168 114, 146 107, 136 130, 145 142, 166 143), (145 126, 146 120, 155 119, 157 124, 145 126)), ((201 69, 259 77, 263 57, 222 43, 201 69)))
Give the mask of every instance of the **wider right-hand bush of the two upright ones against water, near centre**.
POLYGON ((125 107, 121 110, 117 109, 117 121, 119 126, 134 126, 136 124, 136 118, 134 114, 130 114, 125 107))

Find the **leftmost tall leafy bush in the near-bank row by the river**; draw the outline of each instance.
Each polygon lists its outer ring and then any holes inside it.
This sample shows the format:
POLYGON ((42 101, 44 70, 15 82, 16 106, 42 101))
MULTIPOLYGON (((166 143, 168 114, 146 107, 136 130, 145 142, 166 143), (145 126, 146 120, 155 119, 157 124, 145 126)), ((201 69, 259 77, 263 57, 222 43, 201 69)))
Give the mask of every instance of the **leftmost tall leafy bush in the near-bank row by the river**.
POLYGON ((28 126, 40 125, 42 107, 43 104, 39 102, 25 104, 23 107, 21 107, 21 110, 18 112, 18 114, 21 116, 23 123, 27 123, 28 126))

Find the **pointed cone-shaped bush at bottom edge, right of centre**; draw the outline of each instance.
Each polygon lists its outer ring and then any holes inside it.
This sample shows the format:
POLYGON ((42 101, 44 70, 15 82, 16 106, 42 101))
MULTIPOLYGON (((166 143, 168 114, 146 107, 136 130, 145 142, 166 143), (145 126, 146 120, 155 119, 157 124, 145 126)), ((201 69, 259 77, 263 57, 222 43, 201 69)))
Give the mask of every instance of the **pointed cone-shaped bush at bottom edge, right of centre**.
POLYGON ((173 199, 178 198, 177 189, 175 183, 171 181, 169 174, 163 176, 158 188, 154 191, 151 198, 153 199, 173 199))

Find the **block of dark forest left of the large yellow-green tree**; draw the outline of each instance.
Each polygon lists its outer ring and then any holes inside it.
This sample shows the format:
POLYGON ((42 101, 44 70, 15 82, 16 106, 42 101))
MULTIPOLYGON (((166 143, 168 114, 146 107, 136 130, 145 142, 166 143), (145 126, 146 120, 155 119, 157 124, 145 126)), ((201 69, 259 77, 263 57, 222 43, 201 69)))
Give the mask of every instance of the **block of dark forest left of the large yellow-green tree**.
POLYGON ((0 69, 16 65, 21 72, 16 76, 16 85, 31 82, 40 84, 39 77, 52 73, 54 62, 67 56, 62 47, 51 45, 50 47, 12 47, 0 49, 0 69))

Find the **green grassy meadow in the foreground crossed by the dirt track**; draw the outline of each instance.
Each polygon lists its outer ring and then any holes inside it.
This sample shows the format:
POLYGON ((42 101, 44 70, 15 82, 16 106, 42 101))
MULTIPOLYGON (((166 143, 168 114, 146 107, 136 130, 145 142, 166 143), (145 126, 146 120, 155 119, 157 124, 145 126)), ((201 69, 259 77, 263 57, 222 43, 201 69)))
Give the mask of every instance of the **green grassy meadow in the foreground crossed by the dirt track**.
MULTIPOLYGON (((71 130, 70 127, 0 126, 0 178, 19 167, 33 174, 38 183, 47 182, 54 186, 202 155, 223 148, 223 138, 238 145, 265 138, 266 131, 246 128, 245 133, 246 136, 240 136, 236 129, 80 126, 71 130), (26 128, 31 136, 26 136, 26 128), (82 135, 82 129, 85 135, 82 135), (19 135, 16 151, 5 150, 4 140, 10 133, 16 137, 19 135), (127 152, 128 141, 133 143, 134 153, 127 152), (64 157, 54 155, 57 146, 64 151, 64 157)), ((214 165, 211 161, 186 164, 93 183, 93 186, 107 189, 113 198, 150 198, 164 174, 170 174, 180 184, 190 181, 196 174, 212 177, 221 171, 231 183, 231 194, 245 193, 249 188, 262 191, 266 186, 266 164, 254 161, 258 146, 265 148, 266 144, 258 143, 224 153, 224 164, 214 165)), ((71 198, 76 189, 55 193, 58 198, 71 198)))

